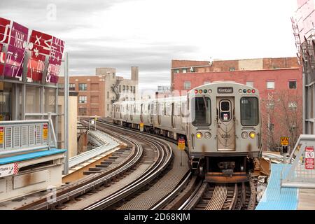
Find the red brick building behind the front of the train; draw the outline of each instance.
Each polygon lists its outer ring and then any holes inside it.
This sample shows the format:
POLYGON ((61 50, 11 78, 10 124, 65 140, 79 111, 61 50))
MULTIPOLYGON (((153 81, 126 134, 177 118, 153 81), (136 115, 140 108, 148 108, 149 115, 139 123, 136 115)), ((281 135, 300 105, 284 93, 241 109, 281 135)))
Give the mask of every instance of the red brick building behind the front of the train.
POLYGON ((260 91, 265 149, 281 136, 294 144, 302 134, 302 69, 295 57, 214 62, 172 60, 172 89, 186 91, 219 80, 233 80, 260 91))

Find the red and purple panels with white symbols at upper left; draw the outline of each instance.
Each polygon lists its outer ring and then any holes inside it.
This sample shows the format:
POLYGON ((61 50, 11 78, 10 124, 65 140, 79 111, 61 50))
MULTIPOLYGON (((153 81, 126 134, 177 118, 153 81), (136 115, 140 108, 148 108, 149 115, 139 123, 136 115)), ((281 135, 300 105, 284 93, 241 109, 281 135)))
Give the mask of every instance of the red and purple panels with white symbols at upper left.
POLYGON ((57 83, 63 52, 59 38, 0 18, 0 76, 21 80, 27 66, 28 81, 42 81, 45 72, 46 83, 57 83))

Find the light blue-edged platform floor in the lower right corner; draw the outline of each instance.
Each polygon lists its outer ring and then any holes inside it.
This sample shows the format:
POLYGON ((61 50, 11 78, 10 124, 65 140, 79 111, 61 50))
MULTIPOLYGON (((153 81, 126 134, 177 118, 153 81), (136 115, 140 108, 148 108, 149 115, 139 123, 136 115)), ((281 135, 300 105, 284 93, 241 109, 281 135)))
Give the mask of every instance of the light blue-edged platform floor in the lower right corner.
POLYGON ((315 190, 281 188, 281 178, 286 178, 290 166, 291 165, 285 164, 272 164, 269 184, 255 210, 315 209, 315 190))

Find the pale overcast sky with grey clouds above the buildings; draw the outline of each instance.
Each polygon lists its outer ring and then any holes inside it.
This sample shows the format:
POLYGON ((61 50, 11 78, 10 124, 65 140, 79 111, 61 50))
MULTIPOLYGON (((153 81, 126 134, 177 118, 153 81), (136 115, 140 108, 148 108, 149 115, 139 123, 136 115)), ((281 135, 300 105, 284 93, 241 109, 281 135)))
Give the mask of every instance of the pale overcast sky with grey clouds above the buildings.
POLYGON ((295 57, 296 0, 0 0, 0 17, 66 41, 70 75, 114 67, 142 89, 169 85, 172 59, 295 57))

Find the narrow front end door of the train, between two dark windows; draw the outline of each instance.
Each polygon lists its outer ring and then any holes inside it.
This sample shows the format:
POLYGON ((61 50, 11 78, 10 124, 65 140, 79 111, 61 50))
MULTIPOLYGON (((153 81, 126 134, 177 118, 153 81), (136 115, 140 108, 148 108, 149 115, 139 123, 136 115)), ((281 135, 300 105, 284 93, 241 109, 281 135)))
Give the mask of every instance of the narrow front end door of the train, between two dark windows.
POLYGON ((218 151, 235 151, 234 97, 217 97, 218 151))

